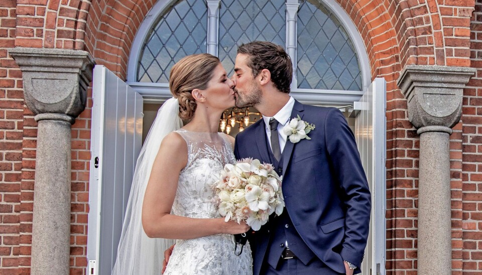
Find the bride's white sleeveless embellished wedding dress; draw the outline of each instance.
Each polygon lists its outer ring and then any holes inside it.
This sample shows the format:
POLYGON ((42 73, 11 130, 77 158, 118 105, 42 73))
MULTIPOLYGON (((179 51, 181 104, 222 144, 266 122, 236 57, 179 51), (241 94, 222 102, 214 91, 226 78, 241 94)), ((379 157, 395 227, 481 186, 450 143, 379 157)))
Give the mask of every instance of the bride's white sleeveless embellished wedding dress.
MULTIPOLYGON (((188 161, 179 175, 172 213, 190 218, 220 218, 212 188, 219 172, 235 158, 224 133, 176 131, 186 141, 188 161)), ((251 275, 251 248, 234 254, 233 236, 216 234, 195 239, 177 240, 164 275, 251 275)))

